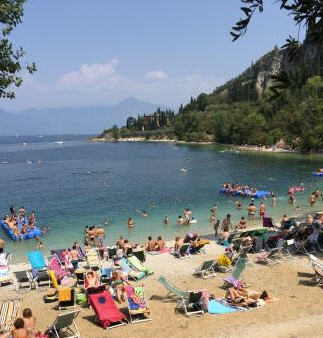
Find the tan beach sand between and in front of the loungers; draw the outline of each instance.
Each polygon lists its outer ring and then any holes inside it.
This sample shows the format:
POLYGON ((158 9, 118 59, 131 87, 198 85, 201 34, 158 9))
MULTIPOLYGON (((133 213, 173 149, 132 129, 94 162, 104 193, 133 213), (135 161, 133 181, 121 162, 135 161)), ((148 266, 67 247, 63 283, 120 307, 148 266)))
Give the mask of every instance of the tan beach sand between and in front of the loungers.
MULTIPOLYGON (((94 323, 94 312, 81 309, 77 324, 84 338, 101 337, 322 337, 323 336, 323 290, 317 286, 300 284, 300 280, 309 280, 312 269, 305 257, 295 257, 273 266, 253 263, 254 255, 249 256, 243 278, 253 290, 267 290, 278 298, 258 309, 226 315, 209 315, 187 318, 175 313, 175 303, 165 302, 166 290, 157 281, 165 276, 179 288, 185 290, 207 289, 216 297, 223 297, 221 287, 223 278, 228 274, 218 273, 216 277, 201 279, 192 276, 193 270, 201 262, 214 259, 223 248, 212 242, 206 254, 176 259, 170 254, 147 255, 146 265, 155 271, 154 275, 138 282, 144 284, 146 296, 151 308, 152 321, 129 324, 108 332, 94 323), (301 273, 303 276, 299 276, 301 273)), ((4 299, 13 291, 1 290, 4 299)), ((9 289, 7 289, 9 290, 9 289)), ((32 308, 37 317, 37 327, 45 330, 56 317, 58 311, 54 304, 44 304, 44 291, 34 290, 23 294, 23 308, 32 308)), ((125 308, 125 305, 121 305, 125 308)))

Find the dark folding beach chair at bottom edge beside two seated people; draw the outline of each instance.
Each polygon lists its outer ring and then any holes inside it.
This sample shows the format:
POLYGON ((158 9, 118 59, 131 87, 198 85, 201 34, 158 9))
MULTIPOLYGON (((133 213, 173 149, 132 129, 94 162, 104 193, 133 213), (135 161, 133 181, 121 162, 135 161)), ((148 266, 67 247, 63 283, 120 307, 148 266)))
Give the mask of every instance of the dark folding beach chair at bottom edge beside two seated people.
POLYGON ((75 319, 80 311, 61 313, 57 316, 54 323, 47 330, 50 337, 81 338, 81 334, 75 323, 75 319))

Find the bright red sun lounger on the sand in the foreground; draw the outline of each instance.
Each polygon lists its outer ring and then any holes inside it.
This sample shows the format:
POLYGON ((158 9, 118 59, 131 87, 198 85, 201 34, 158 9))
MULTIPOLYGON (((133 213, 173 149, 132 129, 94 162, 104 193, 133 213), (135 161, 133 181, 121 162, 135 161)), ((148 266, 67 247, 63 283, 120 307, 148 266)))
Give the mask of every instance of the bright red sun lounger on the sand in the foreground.
POLYGON ((107 290, 89 295, 89 303, 103 328, 111 329, 128 323, 107 290))

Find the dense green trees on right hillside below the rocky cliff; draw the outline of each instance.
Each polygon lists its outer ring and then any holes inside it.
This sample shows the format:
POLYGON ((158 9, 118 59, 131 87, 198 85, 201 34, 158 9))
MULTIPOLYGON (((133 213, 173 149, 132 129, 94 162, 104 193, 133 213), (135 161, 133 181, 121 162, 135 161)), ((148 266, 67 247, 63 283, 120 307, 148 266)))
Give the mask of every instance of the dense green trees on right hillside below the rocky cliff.
POLYGON ((181 108, 175 134, 186 141, 273 145, 283 140, 301 151, 322 150, 323 79, 311 77, 301 88, 286 89, 274 101, 269 95, 235 101, 216 92, 201 94, 181 108))

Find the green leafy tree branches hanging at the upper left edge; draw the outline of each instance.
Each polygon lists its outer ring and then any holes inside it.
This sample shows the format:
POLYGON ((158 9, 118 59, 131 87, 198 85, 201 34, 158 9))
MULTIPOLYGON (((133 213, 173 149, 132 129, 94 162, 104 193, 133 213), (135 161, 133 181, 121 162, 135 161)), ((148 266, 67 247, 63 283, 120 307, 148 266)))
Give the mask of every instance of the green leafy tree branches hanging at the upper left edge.
POLYGON ((24 66, 22 59, 25 52, 15 48, 8 36, 22 22, 25 0, 0 0, 0 98, 13 99, 12 86, 19 87, 23 80, 19 76, 22 70, 29 73, 36 71, 36 65, 24 66))

